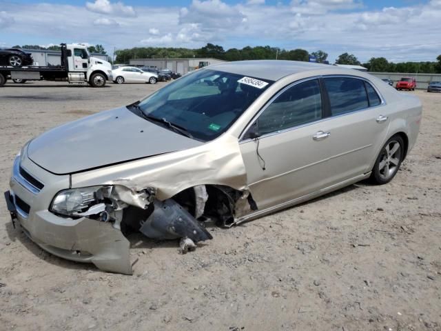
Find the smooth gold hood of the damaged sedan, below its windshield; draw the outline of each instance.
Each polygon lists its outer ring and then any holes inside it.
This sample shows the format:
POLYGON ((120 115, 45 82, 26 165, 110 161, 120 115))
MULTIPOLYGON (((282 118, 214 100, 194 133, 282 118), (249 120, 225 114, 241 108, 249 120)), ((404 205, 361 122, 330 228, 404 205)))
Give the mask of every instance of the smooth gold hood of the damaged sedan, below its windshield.
POLYGON ((28 157, 54 174, 71 174, 202 144, 122 107, 41 134, 28 145, 28 157))

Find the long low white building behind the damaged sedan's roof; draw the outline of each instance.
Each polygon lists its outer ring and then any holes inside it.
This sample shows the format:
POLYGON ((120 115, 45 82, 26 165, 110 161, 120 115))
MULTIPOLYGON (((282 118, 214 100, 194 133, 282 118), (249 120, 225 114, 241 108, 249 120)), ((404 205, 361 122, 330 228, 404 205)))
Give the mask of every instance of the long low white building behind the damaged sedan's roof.
POLYGON ((132 59, 130 60, 130 66, 169 69, 179 74, 186 74, 189 71, 222 62, 225 61, 212 58, 132 59))

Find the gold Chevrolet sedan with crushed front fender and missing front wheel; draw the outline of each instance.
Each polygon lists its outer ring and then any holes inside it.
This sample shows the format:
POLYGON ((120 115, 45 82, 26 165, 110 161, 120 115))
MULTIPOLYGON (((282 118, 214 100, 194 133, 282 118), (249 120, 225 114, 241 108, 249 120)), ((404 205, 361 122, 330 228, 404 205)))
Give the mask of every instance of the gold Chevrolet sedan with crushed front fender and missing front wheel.
POLYGON ((197 70, 129 106, 23 146, 5 193, 44 250, 132 274, 130 242, 212 239, 362 179, 387 183, 416 141, 421 103, 353 70, 240 61, 197 70))

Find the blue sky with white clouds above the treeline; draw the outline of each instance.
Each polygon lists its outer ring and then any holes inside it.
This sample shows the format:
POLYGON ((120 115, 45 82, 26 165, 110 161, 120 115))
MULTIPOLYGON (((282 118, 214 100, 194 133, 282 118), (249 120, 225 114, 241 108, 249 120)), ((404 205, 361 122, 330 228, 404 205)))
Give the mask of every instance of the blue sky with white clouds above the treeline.
POLYGON ((0 0, 0 46, 101 43, 342 52, 435 61, 441 0, 0 0))

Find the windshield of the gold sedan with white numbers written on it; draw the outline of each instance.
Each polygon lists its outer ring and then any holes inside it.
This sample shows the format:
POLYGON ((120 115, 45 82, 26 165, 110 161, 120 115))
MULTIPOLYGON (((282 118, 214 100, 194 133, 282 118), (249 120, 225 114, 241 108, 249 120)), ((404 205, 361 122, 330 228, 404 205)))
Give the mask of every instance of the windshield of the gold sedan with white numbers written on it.
POLYGON ((210 141, 232 126, 271 83, 229 72, 198 70, 147 97, 139 109, 146 118, 165 119, 195 139, 210 141))

